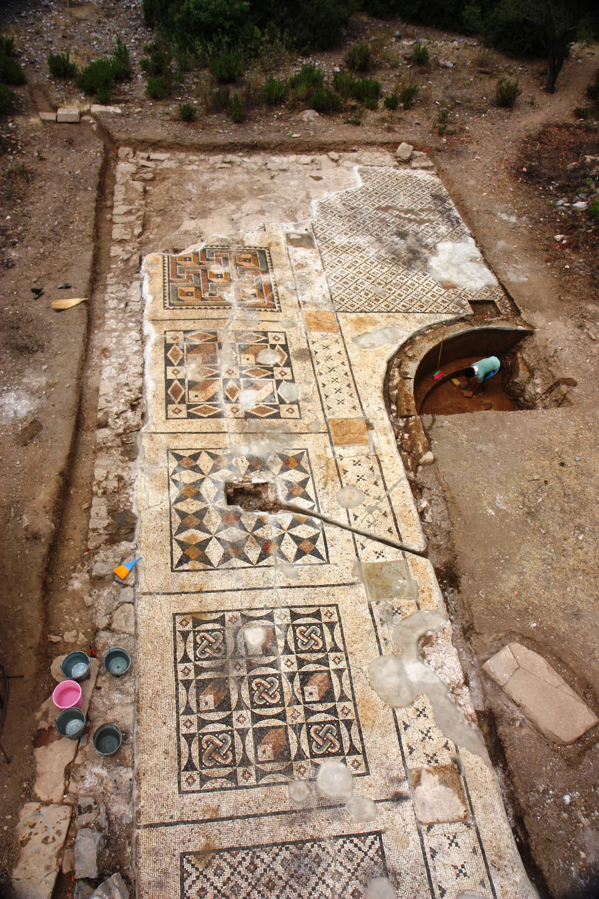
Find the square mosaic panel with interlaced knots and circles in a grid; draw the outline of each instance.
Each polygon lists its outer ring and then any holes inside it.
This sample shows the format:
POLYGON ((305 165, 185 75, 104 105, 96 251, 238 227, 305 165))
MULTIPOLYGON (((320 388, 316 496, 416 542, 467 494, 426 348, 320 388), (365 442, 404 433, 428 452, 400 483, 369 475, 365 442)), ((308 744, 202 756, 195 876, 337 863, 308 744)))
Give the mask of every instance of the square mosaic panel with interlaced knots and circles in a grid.
POLYGON ((336 605, 173 618, 181 793, 366 773, 336 605))

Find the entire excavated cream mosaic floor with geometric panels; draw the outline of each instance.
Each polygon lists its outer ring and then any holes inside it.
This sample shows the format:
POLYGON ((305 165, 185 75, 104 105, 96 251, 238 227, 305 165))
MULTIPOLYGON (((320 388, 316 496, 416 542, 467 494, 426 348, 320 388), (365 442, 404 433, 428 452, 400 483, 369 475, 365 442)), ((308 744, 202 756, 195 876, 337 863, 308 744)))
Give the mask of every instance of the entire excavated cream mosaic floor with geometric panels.
MULTIPOLYGON (((444 736, 426 692, 393 709, 368 681, 397 652, 395 625, 439 607, 431 565, 314 515, 424 546, 383 404, 398 341, 363 338, 408 337, 477 301, 414 263, 414 241, 433 253, 468 234, 438 179, 360 174, 313 222, 145 259, 143 899, 360 899, 374 877, 423 899, 535 895, 486 761, 444 736), (232 479, 269 481, 302 512, 228 504, 232 479), (327 760, 347 764, 374 820, 316 787, 327 760), (433 814, 418 799, 431 772, 454 785, 433 814)), ((448 637, 444 653, 455 681, 448 637)))

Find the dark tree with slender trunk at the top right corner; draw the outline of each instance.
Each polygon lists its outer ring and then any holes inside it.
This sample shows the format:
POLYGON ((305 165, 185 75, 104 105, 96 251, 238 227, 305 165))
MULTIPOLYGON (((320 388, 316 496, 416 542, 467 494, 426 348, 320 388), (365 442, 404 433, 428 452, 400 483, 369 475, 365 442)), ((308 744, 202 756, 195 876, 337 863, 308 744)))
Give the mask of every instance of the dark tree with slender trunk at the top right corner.
POLYGON ((507 0, 506 5, 538 29, 549 63, 545 93, 555 93, 568 42, 583 22, 597 21, 597 0, 507 0))

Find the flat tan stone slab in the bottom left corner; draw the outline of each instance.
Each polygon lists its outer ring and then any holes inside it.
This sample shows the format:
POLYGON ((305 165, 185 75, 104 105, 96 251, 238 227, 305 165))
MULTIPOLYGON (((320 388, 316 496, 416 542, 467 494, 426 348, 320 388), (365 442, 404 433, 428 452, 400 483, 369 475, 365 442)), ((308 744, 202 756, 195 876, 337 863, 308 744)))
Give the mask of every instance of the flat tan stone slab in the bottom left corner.
POLYGON ((17 828, 21 856, 13 871, 16 899, 50 899, 70 819, 70 806, 28 802, 22 807, 17 828))

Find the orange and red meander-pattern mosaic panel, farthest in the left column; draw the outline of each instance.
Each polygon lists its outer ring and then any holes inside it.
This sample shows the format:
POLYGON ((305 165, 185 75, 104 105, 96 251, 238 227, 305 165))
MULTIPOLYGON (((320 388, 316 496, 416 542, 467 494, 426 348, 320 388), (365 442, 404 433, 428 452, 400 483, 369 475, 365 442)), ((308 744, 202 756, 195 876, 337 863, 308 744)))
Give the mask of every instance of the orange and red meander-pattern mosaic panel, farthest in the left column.
POLYGON ((269 250, 206 246, 163 257, 165 309, 233 309, 280 312, 269 250))

